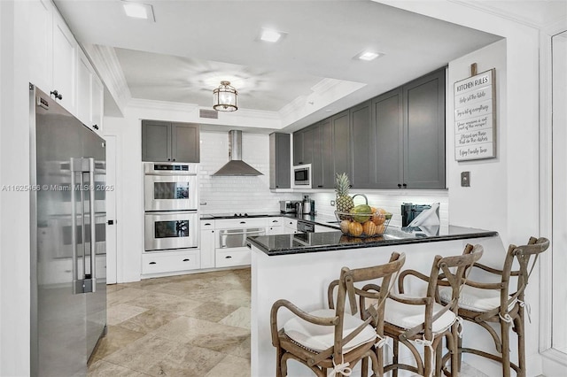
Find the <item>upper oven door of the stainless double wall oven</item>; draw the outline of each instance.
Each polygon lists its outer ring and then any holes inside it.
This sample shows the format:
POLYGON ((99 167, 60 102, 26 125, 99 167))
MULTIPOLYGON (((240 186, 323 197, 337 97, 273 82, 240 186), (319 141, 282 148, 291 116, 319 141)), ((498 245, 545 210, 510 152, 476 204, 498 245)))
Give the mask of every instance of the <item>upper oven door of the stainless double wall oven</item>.
POLYGON ((144 211, 197 211, 197 175, 144 175, 144 211))

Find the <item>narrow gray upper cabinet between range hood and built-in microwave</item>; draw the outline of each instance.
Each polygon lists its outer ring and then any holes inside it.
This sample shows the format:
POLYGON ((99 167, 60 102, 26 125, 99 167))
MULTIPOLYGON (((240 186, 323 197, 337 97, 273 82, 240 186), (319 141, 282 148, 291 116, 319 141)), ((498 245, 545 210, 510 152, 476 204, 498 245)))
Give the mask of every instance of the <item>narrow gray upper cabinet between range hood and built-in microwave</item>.
POLYGON ((269 188, 291 188, 290 134, 269 135, 269 188))

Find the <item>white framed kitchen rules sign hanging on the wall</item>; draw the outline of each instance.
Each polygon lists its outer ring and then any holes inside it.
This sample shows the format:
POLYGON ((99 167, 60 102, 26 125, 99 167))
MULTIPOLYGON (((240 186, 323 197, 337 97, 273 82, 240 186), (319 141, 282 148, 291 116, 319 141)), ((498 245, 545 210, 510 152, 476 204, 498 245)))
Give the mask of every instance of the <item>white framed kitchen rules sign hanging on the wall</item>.
POLYGON ((495 69, 454 83, 454 159, 496 157, 495 69))

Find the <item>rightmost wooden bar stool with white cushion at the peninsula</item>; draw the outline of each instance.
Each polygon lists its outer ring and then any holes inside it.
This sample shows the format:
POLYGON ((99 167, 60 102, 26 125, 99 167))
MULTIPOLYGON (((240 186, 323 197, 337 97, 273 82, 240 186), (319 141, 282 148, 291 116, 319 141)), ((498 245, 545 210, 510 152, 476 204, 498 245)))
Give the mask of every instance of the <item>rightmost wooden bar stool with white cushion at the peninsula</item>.
MULTIPOLYGON (((494 345, 500 355, 494 355, 485 350, 463 348, 462 340, 459 340, 459 361, 462 352, 468 352, 500 362, 504 377, 509 377, 511 368, 518 376, 525 376, 524 290, 538 257, 543 251, 548 250, 548 247, 547 238, 531 237, 527 245, 509 246, 501 269, 479 263, 474 265, 474 268, 488 275, 499 277, 500 281, 488 283, 467 280, 459 299, 459 316, 484 327, 492 335, 494 345), (517 265, 517 270, 512 270, 514 265, 517 265), (510 280, 513 277, 517 278, 516 289, 510 287, 510 280), (500 335, 497 332, 498 328, 495 330, 490 326, 491 323, 500 324, 500 335), (510 362, 510 327, 517 334, 517 364, 510 362)), ((450 293, 448 289, 440 289, 441 301, 447 302, 450 299, 450 293)), ((448 355, 444 357, 444 361, 447 358, 448 355)))

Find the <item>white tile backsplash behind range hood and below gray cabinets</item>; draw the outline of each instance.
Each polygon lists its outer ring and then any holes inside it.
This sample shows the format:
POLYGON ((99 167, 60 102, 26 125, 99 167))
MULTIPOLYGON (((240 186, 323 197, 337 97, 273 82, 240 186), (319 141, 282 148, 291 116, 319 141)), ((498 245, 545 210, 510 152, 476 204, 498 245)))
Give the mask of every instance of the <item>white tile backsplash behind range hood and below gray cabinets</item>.
MULTIPOLYGON (((315 200, 317 213, 334 217, 335 192, 276 193, 269 189, 269 136, 242 134, 242 159, 264 175, 256 177, 213 177, 229 160, 229 133, 201 130, 201 163, 199 164, 199 211, 201 213, 278 212, 280 200, 300 200, 304 194, 315 200), (206 203, 206 204, 205 204, 206 203)), ((404 191, 353 189, 351 195, 363 193, 369 204, 392 212, 391 225, 401 226, 402 203, 439 203, 441 226, 448 225, 448 195, 443 190, 404 191)), ((355 197, 362 204, 362 197, 355 197)))

